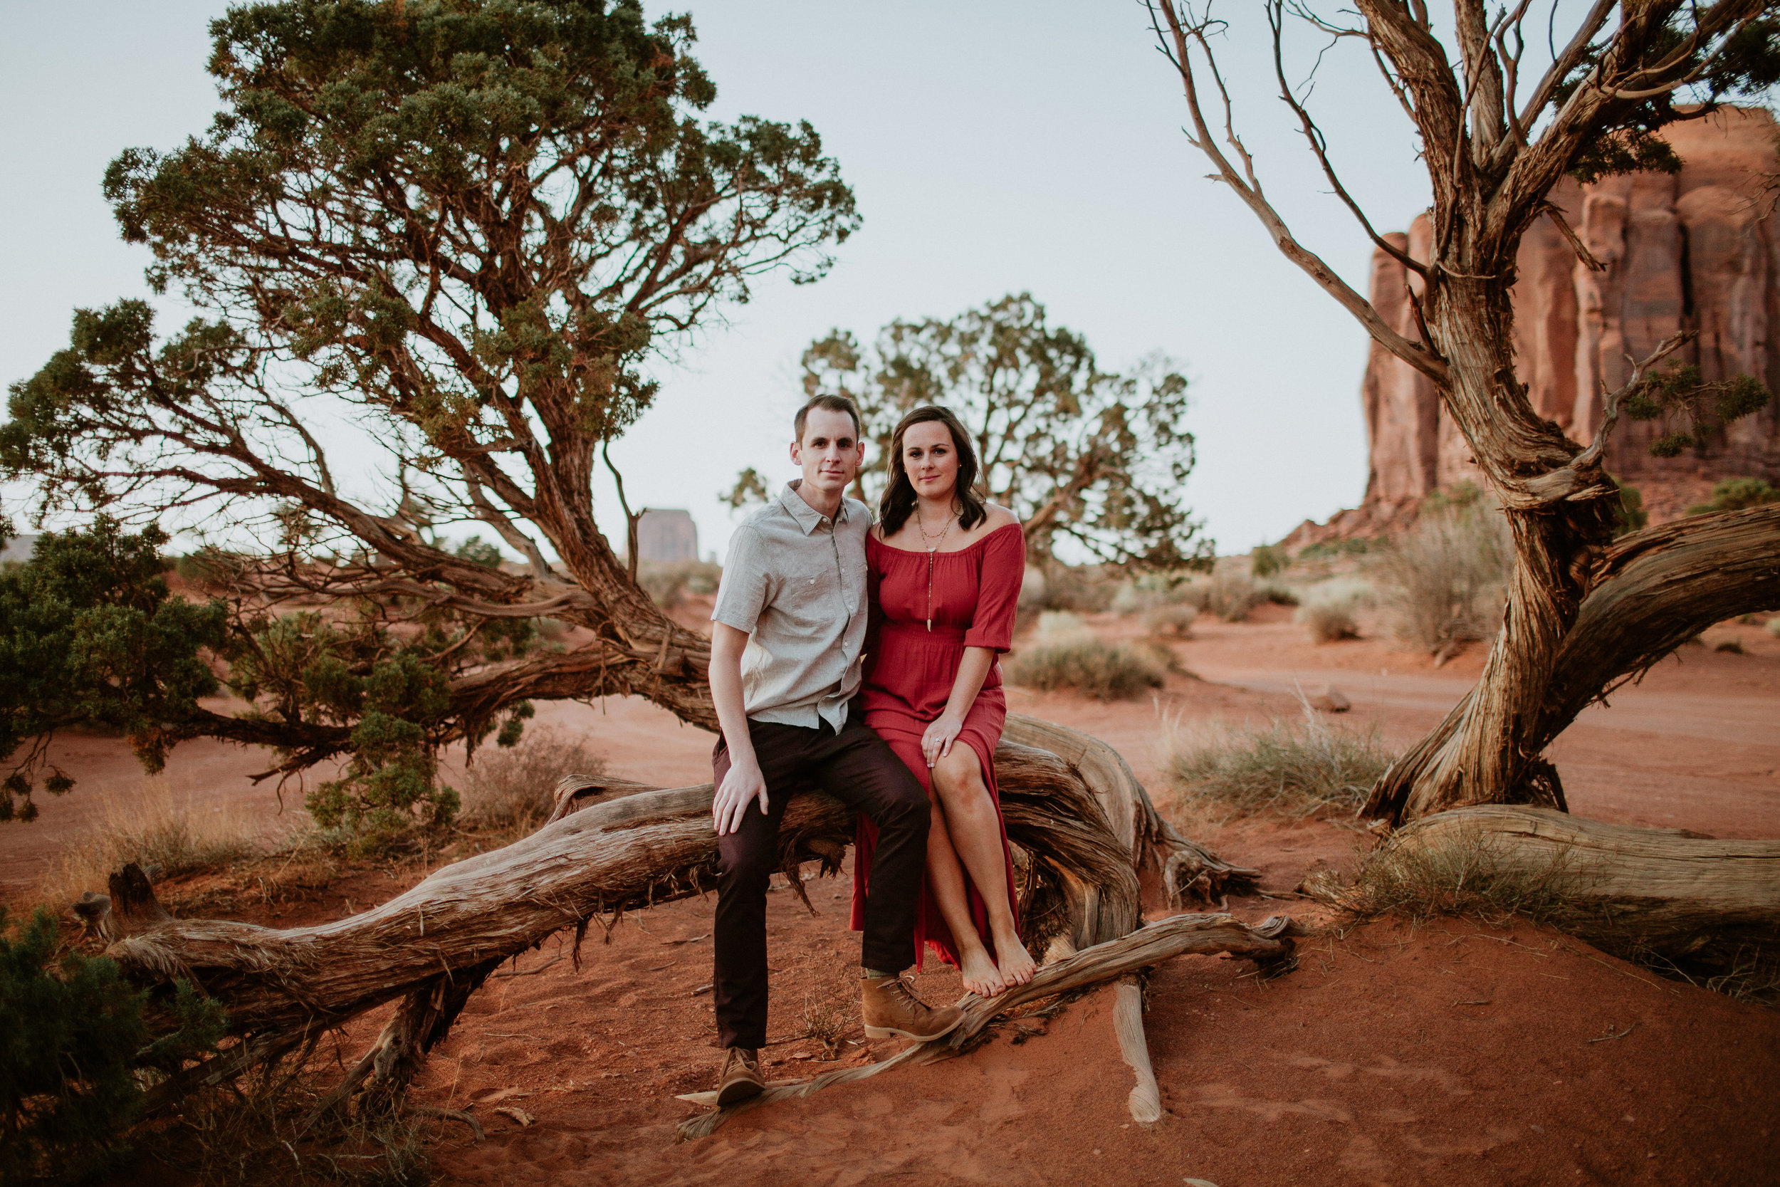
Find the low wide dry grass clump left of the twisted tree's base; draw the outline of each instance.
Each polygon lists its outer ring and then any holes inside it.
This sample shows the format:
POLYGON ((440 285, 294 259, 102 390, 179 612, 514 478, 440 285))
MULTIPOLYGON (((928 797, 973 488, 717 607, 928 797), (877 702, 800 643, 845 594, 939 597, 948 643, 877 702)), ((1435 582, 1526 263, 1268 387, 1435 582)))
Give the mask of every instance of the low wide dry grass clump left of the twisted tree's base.
POLYGON ((1378 728, 1335 730, 1315 712, 1294 726, 1182 728, 1162 731, 1162 771, 1182 808, 1202 815, 1308 815, 1324 806, 1353 810, 1390 765, 1378 728))

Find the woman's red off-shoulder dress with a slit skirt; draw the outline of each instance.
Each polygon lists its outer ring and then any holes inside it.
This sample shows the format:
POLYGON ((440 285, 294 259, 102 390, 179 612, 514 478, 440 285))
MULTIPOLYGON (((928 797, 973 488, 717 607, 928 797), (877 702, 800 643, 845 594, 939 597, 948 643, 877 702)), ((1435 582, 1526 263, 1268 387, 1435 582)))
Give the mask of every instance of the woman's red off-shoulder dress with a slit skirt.
MULTIPOLYGON (((929 788, 927 760, 920 753, 920 735, 945 712, 952 696, 965 648, 1006 651, 1013 644, 1013 616, 1025 577, 1025 536, 1018 523, 999 527, 958 552, 908 552, 865 541, 867 589, 870 591, 872 628, 867 637, 865 687, 862 692, 865 724, 890 744, 908 763, 922 787, 929 788), (931 566, 931 585, 929 585, 931 566), (929 603, 931 587, 931 603, 929 603), (929 626, 931 623, 931 626, 929 626)), ((1000 822, 1000 797, 995 794, 995 744, 1007 721, 1007 699, 1000 687, 1000 664, 990 667, 983 690, 965 715, 958 744, 970 746, 983 763, 983 783, 995 799, 1000 822)), ((1002 856, 1007 870, 1007 902, 1016 904, 1013 851, 1007 826, 1000 824, 1002 856)), ((878 829, 863 815, 853 856, 853 929, 865 925, 865 886, 872 870, 878 829)), ((965 870, 970 918, 983 945, 995 956, 988 909, 965 870)), ((924 884, 915 911, 915 961, 922 947, 933 947, 949 965, 958 965, 958 943, 940 915, 933 886, 924 884)))

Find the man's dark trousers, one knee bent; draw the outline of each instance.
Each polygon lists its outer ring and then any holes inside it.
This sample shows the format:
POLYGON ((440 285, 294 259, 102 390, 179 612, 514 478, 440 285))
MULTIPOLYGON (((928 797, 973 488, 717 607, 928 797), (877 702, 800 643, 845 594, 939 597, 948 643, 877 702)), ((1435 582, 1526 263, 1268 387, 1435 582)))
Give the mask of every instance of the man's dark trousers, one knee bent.
MULTIPOLYGON (((767 785, 769 812, 748 804, 742 824, 717 838, 717 922, 714 977, 717 1032, 724 1046, 767 1043, 767 881, 780 865, 778 828, 792 792, 819 788, 863 812, 878 826, 878 849, 865 897, 860 965, 902 972, 915 963, 915 902, 927 868, 927 792, 872 733, 860 707, 847 707, 837 733, 749 721, 755 758, 767 785)), ((730 772, 728 746, 712 755, 717 787, 730 772)))

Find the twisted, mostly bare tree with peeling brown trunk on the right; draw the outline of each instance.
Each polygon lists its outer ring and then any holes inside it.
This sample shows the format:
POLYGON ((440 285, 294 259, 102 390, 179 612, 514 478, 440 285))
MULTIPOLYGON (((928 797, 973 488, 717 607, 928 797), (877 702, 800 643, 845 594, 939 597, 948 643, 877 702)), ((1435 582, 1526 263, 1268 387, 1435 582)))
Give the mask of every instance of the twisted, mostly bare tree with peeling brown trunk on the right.
MULTIPOLYGON (((1517 251, 1540 215, 1556 217, 1577 244, 1547 201, 1566 174, 1664 167, 1673 153, 1655 139, 1655 128, 1703 116, 1721 96, 1771 85, 1780 77, 1780 25, 1771 7, 1762 0, 1711 7, 1598 0, 1561 48, 1552 41, 1552 62, 1531 78, 1522 77, 1531 0, 1493 16, 1485 0, 1454 0, 1456 57, 1436 36, 1424 0, 1356 0, 1351 25, 1319 16, 1308 4, 1264 4, 1280 98, 1335 196, 1378 251, 1413 278, 1413 338, 1305 247, 1267 199, 1235 128, 1214 53, 1225 23, 1210 5, 1150 0, 1148 9, 1184 89, 1189 142, 1285 258, 1385 351, 1428 375, 1513 532, 1504 625, 1477 687, 1390 767, 1365 812, 1401 820, 1460 804, 1563 806, 1561 781, 1541 753, 1586 703, 1641 674, 1663 653, 1659 644, 1673 646, 1727 614, 1780 605, 1780 516, 1700 516, 1614 545, 1618 491, 1602 454, 1620 408, 1682 338, 1629 359, 1630 379, 1606 393, 1607 415, 1593 441, 1570 441, 1534 411, 1515 375, 1509 290, 1517 251), (1413 121, 1433 189, 1428 260, 1381 237, 1340 182, 1323 130, 1287 78, 1289 21, 1363 44, 1413 121), (1698 107, 1684 110, 1677 96, 1689 91, 1698 107), (1711 548, 1711 561, 1702 546, 1711 548), (1639 603, 1634 591, 1648 600, 1639 603), (1646 628, 1654 634, 1634 635, 1629 646, 1604 635, 1646 628)), ((1556 21, 1556 9, 1550 18, 1556 21)))

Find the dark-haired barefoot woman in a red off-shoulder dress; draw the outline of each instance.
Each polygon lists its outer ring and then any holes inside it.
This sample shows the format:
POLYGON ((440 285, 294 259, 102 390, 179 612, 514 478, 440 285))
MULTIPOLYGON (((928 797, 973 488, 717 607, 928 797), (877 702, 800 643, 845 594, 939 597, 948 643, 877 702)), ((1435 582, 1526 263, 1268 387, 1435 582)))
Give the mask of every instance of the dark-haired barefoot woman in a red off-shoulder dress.
MULTIPOLYGON (((1036 965, 1015 924, 1013 852, 995 797, 995 744, 1007 719, 995 657, 1013 641, 1025 537, 974 489, 970 434, 938 406, 895 427, 890 484, 865 543, 872 628, 865 724, 927 788, 922 941, 979 997, 1025 984, 1036 965)), ((876 829, 860 819, 853 925, 860 927, 876 829)))

